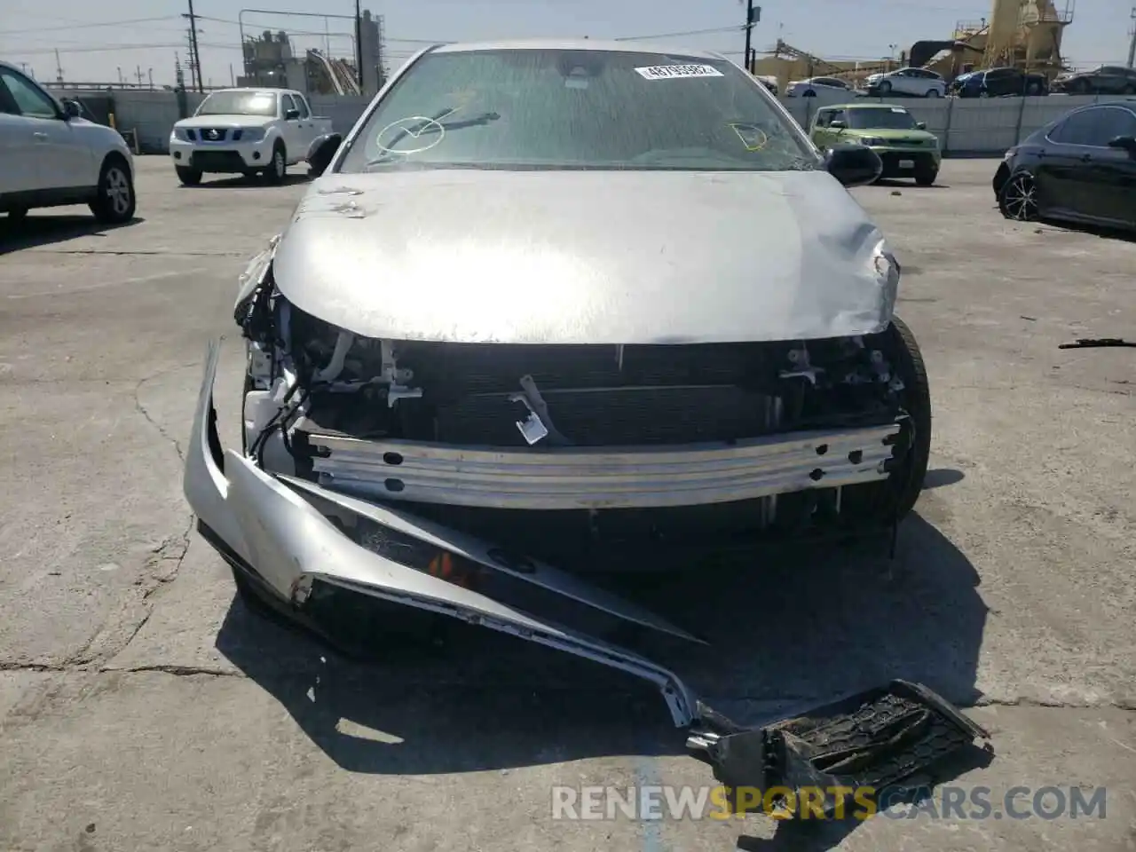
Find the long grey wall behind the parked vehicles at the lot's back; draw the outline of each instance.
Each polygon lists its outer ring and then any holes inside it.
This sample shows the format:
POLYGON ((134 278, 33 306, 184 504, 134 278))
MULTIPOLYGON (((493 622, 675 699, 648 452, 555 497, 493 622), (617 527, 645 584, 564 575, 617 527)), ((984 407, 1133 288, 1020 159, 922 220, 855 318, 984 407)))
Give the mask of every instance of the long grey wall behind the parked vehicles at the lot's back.
MULTIPOLYGON (((91 93, 59 92, 61 97, 91 93)), ((101 94, 101 93, 100 93, 101 94)), ((174 123, 192 115, 203 95, 194 92, 115 91, 111 98, 114 123, 124 133, 136 135, 144 153, 168 151, 174 123)), ((847 94, 824 93, 816 98, 783 98, 793 117, 808 128, 821 107, 849 102, 847 94)), ((907 107, 916 120, 939 137, 944 154, 999 156, 1010 145, 1061 117, 1070 109, 1101 100, 1105 95, 1047 95, 1035 98, 857 98, 855 102, 895 103, 907 107)), ((1133 99, 1136 102, 1136 99, 1133 99)), ((312 111, 328 117, 336 132, 346 133, 369 102, 361 95, 312 95, 312 111)))

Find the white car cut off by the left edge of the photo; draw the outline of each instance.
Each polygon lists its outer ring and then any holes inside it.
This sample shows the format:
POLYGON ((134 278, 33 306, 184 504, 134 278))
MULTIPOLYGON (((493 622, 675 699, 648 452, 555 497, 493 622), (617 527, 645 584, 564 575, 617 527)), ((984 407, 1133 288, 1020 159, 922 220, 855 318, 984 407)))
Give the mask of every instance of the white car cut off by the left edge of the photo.
POLYGON ((80 118, 34 80, 0 62, 0 211, 89 204, 105 223, 134 218, 134 159, 111 127, 80 118))

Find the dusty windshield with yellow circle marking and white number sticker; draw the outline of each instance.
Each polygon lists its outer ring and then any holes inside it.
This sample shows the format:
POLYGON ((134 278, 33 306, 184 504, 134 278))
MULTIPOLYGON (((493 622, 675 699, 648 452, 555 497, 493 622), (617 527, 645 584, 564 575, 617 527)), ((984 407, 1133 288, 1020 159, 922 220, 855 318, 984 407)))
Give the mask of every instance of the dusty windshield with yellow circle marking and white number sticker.
POLYGON ((368 116, 340 172, 782 172, 819 158, 728 61, 611 50, 440 50, 368 116))

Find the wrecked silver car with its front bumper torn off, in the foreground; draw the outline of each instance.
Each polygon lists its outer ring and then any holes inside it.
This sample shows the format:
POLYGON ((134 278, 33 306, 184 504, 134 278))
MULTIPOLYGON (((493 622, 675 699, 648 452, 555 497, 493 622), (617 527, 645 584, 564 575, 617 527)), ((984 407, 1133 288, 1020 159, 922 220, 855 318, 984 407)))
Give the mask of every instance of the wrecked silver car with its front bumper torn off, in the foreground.
POLYGON ((914 504, 927 379, 845 190, 878 158, 822 158, 722 57, 431 48, 309 161, 241 282, 242 446, 217 436, 215 345, 186 460, 242 593, 484 625, 646 678, 690 727, 683 680, 601 636, 698 640, 588 571, 914 504))

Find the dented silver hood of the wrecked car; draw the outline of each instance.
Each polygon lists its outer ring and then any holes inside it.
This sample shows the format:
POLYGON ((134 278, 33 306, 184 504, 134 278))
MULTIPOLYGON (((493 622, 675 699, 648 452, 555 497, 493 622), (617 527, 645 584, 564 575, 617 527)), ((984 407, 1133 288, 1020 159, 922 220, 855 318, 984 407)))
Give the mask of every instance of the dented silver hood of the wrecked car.
POLYGON ((801 340, 887 326, 882 240, 825 172, 328 174, 274 275, 293 304, 369 337, 801 340))

